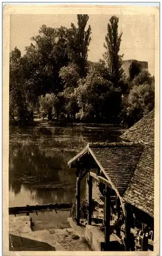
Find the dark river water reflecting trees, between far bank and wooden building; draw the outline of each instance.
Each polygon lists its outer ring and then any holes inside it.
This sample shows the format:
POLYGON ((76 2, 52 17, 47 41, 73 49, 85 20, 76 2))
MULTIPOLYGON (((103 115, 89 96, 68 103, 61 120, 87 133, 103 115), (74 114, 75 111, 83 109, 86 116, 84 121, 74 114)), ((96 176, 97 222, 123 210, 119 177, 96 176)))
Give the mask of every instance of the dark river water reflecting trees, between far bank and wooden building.
MULTIPOLYGON (((76 177, 67 162, 88 142, 119 141, 122 133, 107 127, 11 126, 9 206, 71 202, 76 177)), ((82 182, 82 198, 86 197, 85 186, 82 182)), ((60 215, 65 217, 60 217, 62 222, 67 220, 67 212, 60 215)))

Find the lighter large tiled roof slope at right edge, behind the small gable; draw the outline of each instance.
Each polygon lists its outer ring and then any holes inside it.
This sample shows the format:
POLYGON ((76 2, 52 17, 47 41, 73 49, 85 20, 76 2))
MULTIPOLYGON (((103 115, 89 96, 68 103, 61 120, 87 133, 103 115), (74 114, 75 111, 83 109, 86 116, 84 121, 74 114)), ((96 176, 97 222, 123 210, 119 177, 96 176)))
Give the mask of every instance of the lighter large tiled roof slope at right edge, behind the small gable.
POLYGON ((134 124, 122 136, 124 140, 142 141, 143 153, 123 199, 147 212, 154 212, 154 110, 134 124))

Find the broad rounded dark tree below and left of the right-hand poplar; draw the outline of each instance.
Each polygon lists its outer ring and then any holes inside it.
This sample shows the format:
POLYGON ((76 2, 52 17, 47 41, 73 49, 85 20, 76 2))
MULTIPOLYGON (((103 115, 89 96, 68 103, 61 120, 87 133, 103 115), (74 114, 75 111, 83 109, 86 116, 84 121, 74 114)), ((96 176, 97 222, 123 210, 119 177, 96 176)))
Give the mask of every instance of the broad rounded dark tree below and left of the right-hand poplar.
POLYGON ((78 81, 74 92, 80 108, 77 118, 95 122, 117 120, 120 92, 103 77, 103 71, 101 62, 93 63, 87 76, 78 81))

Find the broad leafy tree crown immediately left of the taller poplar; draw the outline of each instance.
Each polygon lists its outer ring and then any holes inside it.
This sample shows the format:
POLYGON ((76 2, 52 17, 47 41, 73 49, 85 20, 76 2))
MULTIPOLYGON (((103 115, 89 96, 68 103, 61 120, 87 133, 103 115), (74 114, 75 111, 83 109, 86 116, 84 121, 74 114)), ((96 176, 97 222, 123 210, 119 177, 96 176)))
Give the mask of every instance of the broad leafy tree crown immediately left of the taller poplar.
POLYGON ((30 79, 39 95, 59 93, 63 90, 59 71, 68 65, 67 29, 50 28, 42 25, 39 34, 31 38, 33 43, 26 47, 23 68, 26 79, 30 79))

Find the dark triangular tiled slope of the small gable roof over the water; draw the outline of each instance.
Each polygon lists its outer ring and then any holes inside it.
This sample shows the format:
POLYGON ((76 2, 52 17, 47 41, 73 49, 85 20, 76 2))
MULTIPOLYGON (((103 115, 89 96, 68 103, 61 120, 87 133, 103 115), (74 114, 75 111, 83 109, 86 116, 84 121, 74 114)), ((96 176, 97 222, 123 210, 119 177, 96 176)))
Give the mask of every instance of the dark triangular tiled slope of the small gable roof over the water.
POLYGON ((123 196, 143 152, 141 144, 91 147, 98 162, 123 196))

